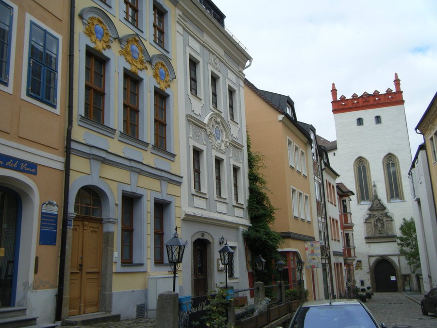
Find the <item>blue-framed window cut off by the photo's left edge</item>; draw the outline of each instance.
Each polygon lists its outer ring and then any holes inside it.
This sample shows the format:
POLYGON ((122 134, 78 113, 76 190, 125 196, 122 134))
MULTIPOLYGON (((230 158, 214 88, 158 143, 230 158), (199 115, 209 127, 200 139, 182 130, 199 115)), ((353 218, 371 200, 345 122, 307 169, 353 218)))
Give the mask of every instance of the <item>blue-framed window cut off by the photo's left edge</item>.
POLYGON ((13 14, 13 8, 0 1, 0 83, 5 86, 9 83, 13 14))

